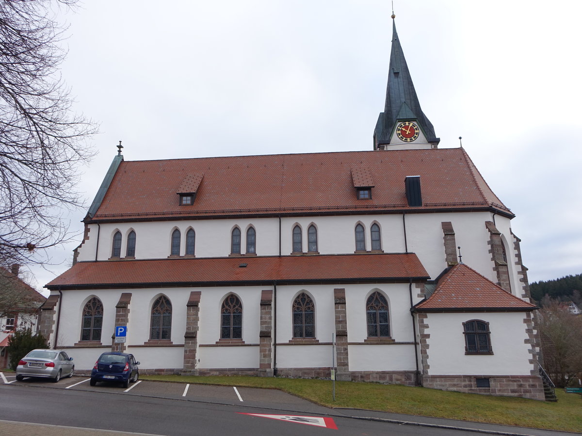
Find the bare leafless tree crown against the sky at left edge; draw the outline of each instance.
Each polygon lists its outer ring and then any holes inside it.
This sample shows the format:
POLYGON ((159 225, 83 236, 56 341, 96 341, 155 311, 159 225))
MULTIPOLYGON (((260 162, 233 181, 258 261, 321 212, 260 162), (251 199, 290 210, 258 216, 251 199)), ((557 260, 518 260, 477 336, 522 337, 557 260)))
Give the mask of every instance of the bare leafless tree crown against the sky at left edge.
POLYGON ((66 209, 81 205, 79 166, 97 127, 72 111, 58 67, 65 28, 53 8, 76 0, 0 2, 0 265, 69 240, 66 209), (65 210, 63 210, 65 209, 65 210))

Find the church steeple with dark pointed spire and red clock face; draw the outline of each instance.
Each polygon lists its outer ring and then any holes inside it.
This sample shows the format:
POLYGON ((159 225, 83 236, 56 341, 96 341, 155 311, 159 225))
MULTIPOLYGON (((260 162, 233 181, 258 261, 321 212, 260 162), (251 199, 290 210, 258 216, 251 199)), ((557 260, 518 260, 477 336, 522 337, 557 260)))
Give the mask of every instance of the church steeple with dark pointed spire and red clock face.
POLYGON ((386 103, 374 129, 374 149, 436 148, 440 139, 420 108, 392 15, 386 103), (402 124, 407 121, 407 124, 402 124), (400 133, 400 134, 399 134, 400 133))

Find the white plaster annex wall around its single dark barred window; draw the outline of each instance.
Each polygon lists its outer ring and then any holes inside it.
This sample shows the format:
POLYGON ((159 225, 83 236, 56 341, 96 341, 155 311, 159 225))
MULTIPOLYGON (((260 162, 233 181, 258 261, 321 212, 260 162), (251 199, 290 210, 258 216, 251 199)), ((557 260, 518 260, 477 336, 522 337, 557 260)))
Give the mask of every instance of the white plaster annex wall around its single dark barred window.
POLYGON ((528 362, 530 345, 524 344, 524 317, 523 312, 428 314, 429 374, 529 375, 533 366, 528 362), (463 322, 471 319, 489 323, 493 355, 465 355, 463 322))

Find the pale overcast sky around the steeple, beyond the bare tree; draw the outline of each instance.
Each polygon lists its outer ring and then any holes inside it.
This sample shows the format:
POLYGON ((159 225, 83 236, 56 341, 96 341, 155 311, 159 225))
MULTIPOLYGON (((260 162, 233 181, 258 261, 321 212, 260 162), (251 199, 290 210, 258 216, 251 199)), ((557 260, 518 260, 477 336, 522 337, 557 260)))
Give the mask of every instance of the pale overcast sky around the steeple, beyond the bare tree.
MULTIPOLYGON (((439 147, 463 147, 516 214, 530 282, 582 273, 582 2, 396 0, 396 27, 439 147)), ((372 149, 389 1, 87 0, 62 75, 97 123, 87 207, 126 160, 372 149)), ((81 231, 86 209, 71 217, 81 231)), ((68 269, 55 248, 37 287, 68 269)), ((46 290, 44 290, 47 294, 46 290)))

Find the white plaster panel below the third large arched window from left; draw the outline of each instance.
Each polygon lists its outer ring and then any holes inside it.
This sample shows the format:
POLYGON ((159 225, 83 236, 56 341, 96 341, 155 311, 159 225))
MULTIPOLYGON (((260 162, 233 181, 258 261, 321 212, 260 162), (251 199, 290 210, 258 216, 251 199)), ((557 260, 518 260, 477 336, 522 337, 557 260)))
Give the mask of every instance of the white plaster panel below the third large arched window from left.
POLYGON ((199 369, 214 368, 258 368, 257 346, 199 346, 199 369))

